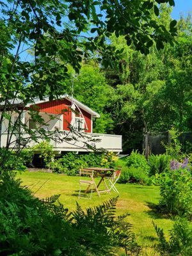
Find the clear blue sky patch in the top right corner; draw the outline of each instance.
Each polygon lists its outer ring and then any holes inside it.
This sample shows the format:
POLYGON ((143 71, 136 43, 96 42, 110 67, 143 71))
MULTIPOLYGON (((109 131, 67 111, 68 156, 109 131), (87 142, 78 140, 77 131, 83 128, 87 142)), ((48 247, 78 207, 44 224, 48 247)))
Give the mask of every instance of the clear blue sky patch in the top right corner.
POLYGON ((175 0, 172 12, 173 19, 179 19, 180 13, 186 17, 189 12, 192 14, 192 0, 175 0))

